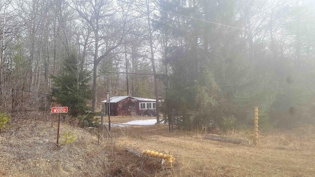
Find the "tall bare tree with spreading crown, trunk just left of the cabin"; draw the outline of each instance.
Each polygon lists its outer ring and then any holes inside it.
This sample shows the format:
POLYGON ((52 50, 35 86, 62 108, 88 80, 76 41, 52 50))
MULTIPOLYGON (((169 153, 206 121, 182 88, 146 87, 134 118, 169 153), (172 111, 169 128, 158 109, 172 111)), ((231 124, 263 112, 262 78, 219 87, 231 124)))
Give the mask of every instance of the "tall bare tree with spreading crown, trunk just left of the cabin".
MULTIPOLYGON (((93 31, 93 100, 92 109, 96 111, 97 66, 122 42, 125 35, 126 14, 116 15, 112 0, 75 0, 69 6, 90 25, 93 31), (121 25, 122 24, 122 25, 121 25), (111 30, 107 30, 111 29, 111 30), (101 54, 99 54, 101 53, 101 54)), ((127 12, 126 12, 127 13, 127 12)))

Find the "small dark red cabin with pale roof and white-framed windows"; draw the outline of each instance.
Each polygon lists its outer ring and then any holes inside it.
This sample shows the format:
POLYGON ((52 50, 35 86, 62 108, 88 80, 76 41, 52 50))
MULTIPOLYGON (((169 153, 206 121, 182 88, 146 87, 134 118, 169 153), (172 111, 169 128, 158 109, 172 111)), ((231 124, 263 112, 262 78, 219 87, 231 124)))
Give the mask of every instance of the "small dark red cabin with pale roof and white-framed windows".
MULTIPOLYGON (((111 116, 142 115, 146 110, 156 110, 156 99, 113 96, 109 100, 111 116)), ((101 103, 104 103, 107 108, 107 100, 101 103)))

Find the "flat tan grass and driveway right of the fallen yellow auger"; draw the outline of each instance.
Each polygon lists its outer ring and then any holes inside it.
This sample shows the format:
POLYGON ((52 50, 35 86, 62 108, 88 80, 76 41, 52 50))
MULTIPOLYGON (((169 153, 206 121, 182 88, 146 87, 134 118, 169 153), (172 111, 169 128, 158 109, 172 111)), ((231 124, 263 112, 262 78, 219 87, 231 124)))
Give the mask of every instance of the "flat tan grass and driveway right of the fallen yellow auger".
MULTIPOLYGON (((177 158, 174 177, 313 177, 315 172, 314 126, 260 133, 258 147, 209 141, 194 132, 168 133, 167 125, 129 127, 128 132, 120 138, 123 147, 170 151, 177 158)), ((225 136, 249 139, 252 132, 225 136)))

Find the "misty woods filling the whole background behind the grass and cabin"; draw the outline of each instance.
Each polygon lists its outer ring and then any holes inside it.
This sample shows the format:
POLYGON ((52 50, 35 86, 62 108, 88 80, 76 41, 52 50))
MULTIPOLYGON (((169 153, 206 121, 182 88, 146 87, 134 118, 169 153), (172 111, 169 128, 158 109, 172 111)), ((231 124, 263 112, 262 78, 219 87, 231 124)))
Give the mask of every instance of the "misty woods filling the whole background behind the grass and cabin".
POLYGON ((2 0, 0 109, 47 110, 63 90, 97 111, 111 89, 162 98, 191 128, 252 125, 254 106, 265 127, 315 123, 314 17, 314 0, 2 0), (108 71, 167 77, 108 88, 108 71))

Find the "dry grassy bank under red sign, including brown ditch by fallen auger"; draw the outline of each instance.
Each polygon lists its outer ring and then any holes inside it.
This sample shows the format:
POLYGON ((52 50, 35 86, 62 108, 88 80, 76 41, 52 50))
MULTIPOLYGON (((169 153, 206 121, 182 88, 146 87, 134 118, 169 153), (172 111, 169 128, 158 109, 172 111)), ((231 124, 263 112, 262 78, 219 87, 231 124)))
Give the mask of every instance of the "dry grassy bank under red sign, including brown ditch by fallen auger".
POLYGON ((91 130, 62 121, 63 132, 73 134, 74 142, 56 144, 56 117, 13 121, 0 134, 0 177, 147 177, 163 170, 148 159, 134 158, 116 145, 117 139, 97 145, 91 130))

